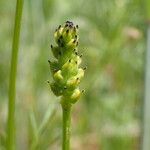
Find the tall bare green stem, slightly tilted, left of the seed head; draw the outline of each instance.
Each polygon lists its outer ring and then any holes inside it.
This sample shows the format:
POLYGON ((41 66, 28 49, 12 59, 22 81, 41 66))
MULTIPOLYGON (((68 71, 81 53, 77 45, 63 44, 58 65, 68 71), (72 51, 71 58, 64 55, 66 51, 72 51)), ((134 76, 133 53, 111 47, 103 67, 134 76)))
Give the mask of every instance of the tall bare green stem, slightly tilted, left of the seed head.
POLYGON ((22 18, 23 0, 17 0, 15 13, 15 26, 12 42, 11 70, 9 81, 8 121, 7 121, 7 150, 15 149, 15 96, 16 73, 18 62, 18 47, 22 18))

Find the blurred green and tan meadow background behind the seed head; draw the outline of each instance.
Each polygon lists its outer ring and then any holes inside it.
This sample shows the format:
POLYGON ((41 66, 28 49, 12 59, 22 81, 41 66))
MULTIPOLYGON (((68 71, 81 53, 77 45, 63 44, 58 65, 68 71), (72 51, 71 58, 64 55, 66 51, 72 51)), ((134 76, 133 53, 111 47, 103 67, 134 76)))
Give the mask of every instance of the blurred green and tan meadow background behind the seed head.
MULTIPOLYGON (((16 0, 0 0, 0 149, 5 147, 8 81, 16 0)), ((145 53, 140 0, 25 0, 17 73, 18 150, 61 149, 61 107, 50 91, 47 60, 53 33, 66 20, 79 25, 87 66, 73 107, 72 150, 137 150, 145 53)))

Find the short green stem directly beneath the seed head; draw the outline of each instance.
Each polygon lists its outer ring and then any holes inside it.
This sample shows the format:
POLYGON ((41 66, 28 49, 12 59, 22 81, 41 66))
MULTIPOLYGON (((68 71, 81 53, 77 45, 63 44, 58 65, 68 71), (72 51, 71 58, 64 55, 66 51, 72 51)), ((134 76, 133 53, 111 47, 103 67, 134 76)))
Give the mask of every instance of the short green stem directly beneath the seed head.
POLYGON ((62 150, 70 150, 71 105, 62 106, 63 110, 63 143, 62 150))

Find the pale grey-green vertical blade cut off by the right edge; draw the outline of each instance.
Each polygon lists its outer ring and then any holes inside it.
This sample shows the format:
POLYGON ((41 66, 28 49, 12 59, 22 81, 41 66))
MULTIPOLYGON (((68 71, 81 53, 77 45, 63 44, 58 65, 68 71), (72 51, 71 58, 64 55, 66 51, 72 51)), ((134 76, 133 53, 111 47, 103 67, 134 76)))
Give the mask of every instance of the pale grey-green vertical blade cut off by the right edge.
POLYGON ((145 16, 147 22, 147 50, 146 50, 146 64, 145 64, 145 89, 144 89, 144 103, 143 103, 143 133, 142 133, 142 150, 150 149, 150 1, 144 0, 145 16))

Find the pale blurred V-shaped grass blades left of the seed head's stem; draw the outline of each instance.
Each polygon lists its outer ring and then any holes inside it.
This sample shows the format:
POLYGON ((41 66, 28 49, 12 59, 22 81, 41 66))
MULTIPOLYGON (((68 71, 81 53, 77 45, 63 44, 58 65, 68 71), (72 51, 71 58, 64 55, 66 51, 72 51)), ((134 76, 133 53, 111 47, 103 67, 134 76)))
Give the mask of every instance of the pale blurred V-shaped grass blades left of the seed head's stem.
POLYGON ((29 113, 29 149, 40 150, 46 149, 54 140, 58 139, 58 135, 52 134, 53 126, 52 121, 56 114, 56 109, 49 106, 44 114, 43 120, 37 123, 35 113, 31 111, 29 113), (49 132, 50 130, 50 132, 49 132), (50 140, 46 140, 46 134, 51 136, 50 140))

